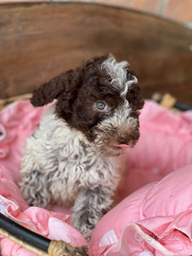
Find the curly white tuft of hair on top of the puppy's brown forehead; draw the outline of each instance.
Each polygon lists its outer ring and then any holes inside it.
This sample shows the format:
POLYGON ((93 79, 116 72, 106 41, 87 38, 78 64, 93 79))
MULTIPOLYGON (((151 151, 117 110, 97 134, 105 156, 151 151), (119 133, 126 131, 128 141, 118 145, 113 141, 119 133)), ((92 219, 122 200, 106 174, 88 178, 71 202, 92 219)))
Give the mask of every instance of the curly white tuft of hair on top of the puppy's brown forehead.
POLYGON ((125 98, 128 92, 128 88, 132 83, 137 83, 138 80, 135 76, 133 80, 127 81, 127 69, 129 69, 129 63, 126 61, 117 63, 114 57, 107 59, 102 65, 102 69, 105 69, 112 79, 112 86, 120 90, 120 96, 125 98))

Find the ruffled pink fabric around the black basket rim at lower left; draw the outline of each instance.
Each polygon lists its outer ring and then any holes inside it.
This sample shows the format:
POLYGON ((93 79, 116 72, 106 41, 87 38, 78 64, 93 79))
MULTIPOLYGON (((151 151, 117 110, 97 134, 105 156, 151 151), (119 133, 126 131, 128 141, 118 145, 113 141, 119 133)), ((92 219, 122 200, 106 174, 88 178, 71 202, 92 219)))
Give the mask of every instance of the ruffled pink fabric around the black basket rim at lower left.
MULTIPOLYGON (((0 211, 13 221, 50 239, 63 240, 73 247, 87 245, 77 229, 70 225, 71 217, 37 207, 28 208, 18 187, 8 179, 0 179, 0 211)), ((0 236, 2 256, 33 256, 25 248, 0 236)))

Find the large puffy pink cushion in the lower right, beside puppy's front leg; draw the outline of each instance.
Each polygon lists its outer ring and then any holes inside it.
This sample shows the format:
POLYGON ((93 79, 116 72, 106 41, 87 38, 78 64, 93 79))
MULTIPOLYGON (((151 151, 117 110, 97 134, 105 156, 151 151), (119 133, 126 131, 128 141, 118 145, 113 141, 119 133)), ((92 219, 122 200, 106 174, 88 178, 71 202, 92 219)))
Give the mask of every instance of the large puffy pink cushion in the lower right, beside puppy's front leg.
POLYGON ((133 192, 96 226, 92 255, 190 255, 191 180, 192 164, 133 192))

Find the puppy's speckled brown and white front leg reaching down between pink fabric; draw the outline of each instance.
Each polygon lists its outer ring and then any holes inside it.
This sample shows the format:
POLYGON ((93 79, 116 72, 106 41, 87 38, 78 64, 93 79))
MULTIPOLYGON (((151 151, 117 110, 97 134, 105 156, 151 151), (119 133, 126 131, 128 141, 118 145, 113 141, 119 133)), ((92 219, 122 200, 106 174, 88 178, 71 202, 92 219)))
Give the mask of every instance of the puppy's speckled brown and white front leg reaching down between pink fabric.
POLYGON ((79 230, 87 242, 90 241, 97 222, 110 210, 113 202, 111 196, 112 191, 101 186, 79 192, 74 205, 72 226, 79 230))

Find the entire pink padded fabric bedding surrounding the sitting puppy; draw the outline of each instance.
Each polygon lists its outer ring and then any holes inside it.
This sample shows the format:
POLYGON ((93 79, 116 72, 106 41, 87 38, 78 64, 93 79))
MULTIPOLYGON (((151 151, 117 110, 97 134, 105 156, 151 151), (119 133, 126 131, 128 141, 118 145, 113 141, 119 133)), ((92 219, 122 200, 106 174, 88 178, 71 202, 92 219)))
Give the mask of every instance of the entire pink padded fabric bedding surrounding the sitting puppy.
MULTIPOLYGON (((50 239, 87 245, 70 225, 70 210, 28 208, 16 186, 23 145, 43 110, 17 101, 0 112, 0 211, 50 239)), ((173 114, 146 101, 140 122, 141 137, 126 152, 129 172, 117 191, 125 199, 96 226, 90 255, 192 255, 192 112, 173 114)), ((34 255, 0 239, 2 256, 34 255)))

